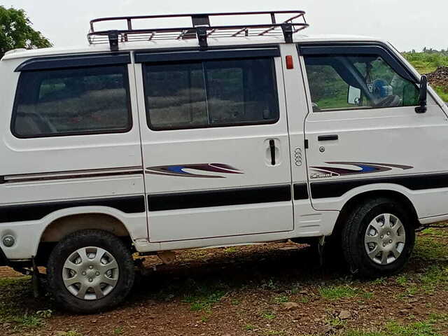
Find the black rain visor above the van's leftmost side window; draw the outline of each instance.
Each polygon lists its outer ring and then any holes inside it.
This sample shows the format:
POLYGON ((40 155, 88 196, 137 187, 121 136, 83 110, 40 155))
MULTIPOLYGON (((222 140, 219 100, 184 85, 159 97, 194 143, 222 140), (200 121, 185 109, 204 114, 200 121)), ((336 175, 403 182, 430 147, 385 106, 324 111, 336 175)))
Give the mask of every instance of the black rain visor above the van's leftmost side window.
POLYGON ((130 64, 130 52, 34 57, 20 64, 15 72, 85 68, 87 66, 130 64))

